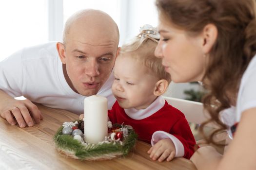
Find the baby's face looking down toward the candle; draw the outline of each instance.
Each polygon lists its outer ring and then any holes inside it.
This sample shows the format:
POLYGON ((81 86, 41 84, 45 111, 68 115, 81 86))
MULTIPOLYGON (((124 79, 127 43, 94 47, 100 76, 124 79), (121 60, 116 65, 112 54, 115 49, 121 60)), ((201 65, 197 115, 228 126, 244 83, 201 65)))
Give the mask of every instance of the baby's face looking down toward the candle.
POLYGON ((135 59, 117 57, 114 76, 112 92, 122 108, 145 109, 156 99, 154 89, 158 77, 135 59))

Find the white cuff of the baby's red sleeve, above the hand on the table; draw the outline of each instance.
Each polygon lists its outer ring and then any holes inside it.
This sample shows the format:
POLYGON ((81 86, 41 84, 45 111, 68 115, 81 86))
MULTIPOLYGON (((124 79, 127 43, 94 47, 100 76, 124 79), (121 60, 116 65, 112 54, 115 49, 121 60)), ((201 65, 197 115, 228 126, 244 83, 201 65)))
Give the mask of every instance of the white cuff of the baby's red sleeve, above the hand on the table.
POLYGON ((175 146, 175 150, 176 150, 176 154, 175 154, 175 157, 182 157, 184 156, 184 146, 183 144, 178 140, 177 137, 167 133, 167 132, 164 132, 164 131, 156 131, 154 132, 154 134, 152 135, 152 138, 151 138, 151 145, 155 145, 159 140, 161 139, 165 139, 165 138, 169 138, 173 141, 174 143, 174 146, 175 146))

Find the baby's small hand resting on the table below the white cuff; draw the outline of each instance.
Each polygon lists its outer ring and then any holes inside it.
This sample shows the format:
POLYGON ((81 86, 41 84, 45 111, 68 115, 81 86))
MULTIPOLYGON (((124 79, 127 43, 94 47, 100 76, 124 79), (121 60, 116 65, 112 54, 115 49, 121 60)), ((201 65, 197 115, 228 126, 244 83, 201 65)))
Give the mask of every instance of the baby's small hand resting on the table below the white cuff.
POLYGON ((166 161, 169 162, 174 158, 176 150, 173 141, 166 138, 159 140, 154 146, 152 146, 148 150, 148 154, 150 154, 149 157, 154 161, 159 158, 158 161, 162 162, 167 158, 166 161))

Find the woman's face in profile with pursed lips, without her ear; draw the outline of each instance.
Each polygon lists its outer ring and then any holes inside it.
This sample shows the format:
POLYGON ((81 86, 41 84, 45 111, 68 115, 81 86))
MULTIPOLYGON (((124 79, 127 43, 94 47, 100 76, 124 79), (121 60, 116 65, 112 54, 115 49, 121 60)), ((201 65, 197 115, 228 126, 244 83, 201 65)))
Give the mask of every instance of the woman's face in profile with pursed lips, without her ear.
POLYGON ((206 68, 202 35, 189 36, 186 31, 173 26, 167 19, 159 19, 160 40, 155 55, 176 83, 201 81, 206 68))

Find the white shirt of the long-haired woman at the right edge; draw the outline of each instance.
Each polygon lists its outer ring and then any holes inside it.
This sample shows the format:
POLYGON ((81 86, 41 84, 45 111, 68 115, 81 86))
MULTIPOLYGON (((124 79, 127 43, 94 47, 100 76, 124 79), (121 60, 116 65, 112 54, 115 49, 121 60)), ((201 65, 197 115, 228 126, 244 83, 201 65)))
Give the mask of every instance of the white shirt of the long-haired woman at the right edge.
MULTIPOLYGON (((240 121, 242 112, 256 107, 256 56, 246 68, 238 90, 236 106, 223 111, 222 120, 229 127, 240 121)), ((229 130, 229 135, 232 133, 229 130)))

